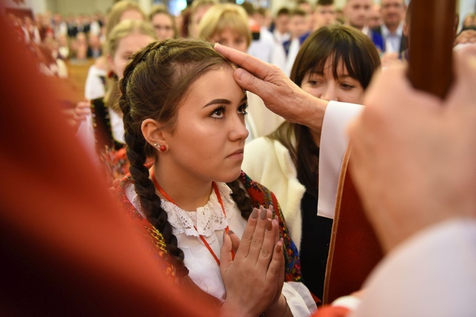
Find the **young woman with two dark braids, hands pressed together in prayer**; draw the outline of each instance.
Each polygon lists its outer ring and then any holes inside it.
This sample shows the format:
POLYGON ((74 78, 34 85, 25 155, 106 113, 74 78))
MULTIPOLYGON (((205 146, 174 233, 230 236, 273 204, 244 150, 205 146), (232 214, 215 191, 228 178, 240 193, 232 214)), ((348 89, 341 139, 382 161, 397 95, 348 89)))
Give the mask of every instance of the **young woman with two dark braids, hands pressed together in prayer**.
POLYGON ((164 271, 179 284, 198 287, 224 309, 239 306, 242 316, 308 316, 315 305, 300 282, 296 246, 278 202, 241 172, 247 97, 233 71, 209 43, 198 40, 164 40, 134 55, 119 85, 131 173, 119 185, 119 196, 153 254, 164 260, 164 271), (284 278, 263 279, 242 257, 249 226, 257 221, 264 230, 271 217, 264 208, 258 217, 254 207, 261 205, 273 206, 278 220, 269 221, 266 233, 276 230, 283 241, 260 258, 281 259, 284 268, 276 272, 284 278), (234 261, 226 252, 228 230, 242 237, 234 261))

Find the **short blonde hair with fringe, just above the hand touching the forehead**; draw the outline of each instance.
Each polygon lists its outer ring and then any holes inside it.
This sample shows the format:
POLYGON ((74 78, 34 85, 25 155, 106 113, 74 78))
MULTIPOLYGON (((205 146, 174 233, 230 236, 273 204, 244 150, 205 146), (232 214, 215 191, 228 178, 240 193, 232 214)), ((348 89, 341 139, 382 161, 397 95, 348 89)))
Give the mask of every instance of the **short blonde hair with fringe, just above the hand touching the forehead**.
POLYGON ((214 35, 230 29, 247 38, 251 44, 251 30, 247 12, 237 4, 217 4, 208 9, 198 25, 198 38, 210 40, 214 35))

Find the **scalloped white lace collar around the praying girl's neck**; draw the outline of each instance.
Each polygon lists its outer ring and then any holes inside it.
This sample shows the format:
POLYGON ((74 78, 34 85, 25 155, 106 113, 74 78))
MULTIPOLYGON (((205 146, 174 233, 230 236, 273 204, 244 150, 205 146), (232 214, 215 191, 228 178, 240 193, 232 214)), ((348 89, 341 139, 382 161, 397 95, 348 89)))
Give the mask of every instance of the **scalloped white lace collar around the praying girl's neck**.
MULTIPOLYGON (((198 237, 198 235, 210 237, 215 231, 227 228, 228 221, 232 218, 234 209, 234 201, 230 196, 232 189, 225 183, 217 183, 217 187, 222 197, 223 205, 225 206, 225 212, 227 213, 226 218, 214 190, 212 194, 210 194, 210 199, 207 204, 199 207, 197 211, 185 211, 170 201, 162 199, 161 205, 167 213, 168 222, 171 223, 173 227, 174 235, 185 233, 185 235, 195 237, 198 237), (197 230, 195 230, 194 225, 197 227, 197 230)), ((141 210, 141 204, 139 204, 139 196, 134 191, 134 186, 131 184, 125 191, 131 204, 144 216, 141 210)), ((144 218, 146 217, 144 216, 144 218)))

